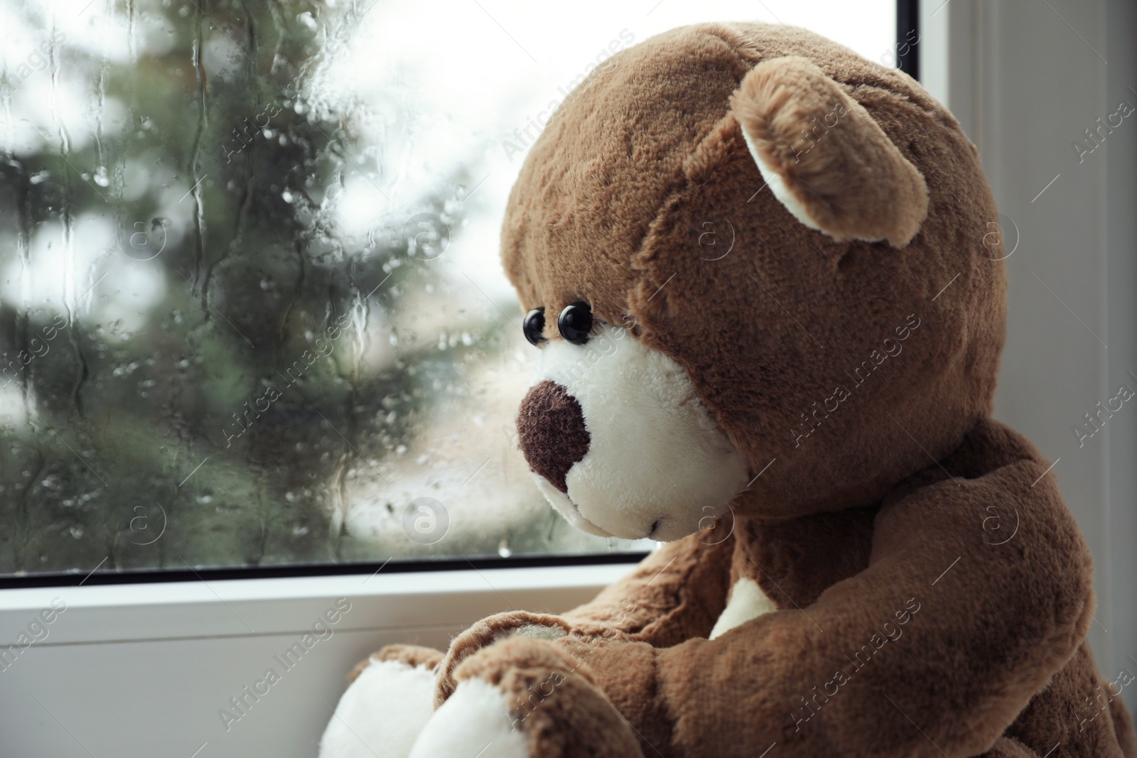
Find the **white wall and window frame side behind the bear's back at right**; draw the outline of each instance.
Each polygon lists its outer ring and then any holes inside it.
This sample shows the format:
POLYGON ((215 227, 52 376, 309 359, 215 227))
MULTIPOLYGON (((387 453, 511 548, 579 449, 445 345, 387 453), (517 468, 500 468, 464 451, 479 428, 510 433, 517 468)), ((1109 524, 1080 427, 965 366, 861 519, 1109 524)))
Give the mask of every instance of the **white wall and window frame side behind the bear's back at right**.
POLYGON ((922 0, 921 16, 924 83, 979 148, 1009 250, 1018 230, 995 413, 1060 459, 1095 558, 1090 642, 1112 680, 1137 672, 1137 399, 1081 447, 1073 426, 1120 385, 1137 391, 1137 114, 1080 163, 1072 142, 1090 144, 1084 130, 1120 101, 1137 106, 1137 6, 922 0))

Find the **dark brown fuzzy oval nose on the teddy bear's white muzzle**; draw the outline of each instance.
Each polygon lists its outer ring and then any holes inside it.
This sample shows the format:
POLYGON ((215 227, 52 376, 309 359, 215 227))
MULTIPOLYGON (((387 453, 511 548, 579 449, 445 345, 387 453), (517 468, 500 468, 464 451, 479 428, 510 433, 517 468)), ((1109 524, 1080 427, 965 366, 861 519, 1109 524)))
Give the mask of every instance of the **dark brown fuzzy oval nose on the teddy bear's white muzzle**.
POLYGON ((529 467, 567 494, 565 476, 591 440, 576 398, 547 380, 534 384, 517 411, 517 438, 529 467))

